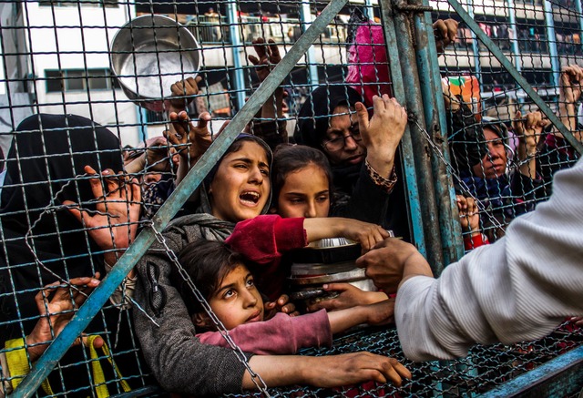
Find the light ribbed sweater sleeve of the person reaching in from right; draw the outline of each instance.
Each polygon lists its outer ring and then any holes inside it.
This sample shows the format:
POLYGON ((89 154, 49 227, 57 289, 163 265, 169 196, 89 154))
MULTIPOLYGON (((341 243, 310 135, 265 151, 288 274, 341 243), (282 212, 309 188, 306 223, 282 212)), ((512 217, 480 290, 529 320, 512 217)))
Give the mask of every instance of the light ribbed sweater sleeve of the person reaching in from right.
POLYGON ((395 321, 415 361, 465 356, 476 342, 521 342, 583 315, 583 160, 555 176, 553 195, 512 221, 506 237, 414 277, 397 293, 395 321))

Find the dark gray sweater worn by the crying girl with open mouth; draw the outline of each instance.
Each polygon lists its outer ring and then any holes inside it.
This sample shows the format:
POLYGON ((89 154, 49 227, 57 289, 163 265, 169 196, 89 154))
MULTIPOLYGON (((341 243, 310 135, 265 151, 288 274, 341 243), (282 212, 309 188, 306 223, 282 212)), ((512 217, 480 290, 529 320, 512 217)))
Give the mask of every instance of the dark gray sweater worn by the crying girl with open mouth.
MULTIPOLYGON (((178 254, 194 240, 224 240, 233 227, 208 214, 194 214, 172 221, 163 235, 178 254)), ((243 364, 230 349, 202 344, 195 338, 189 312, 170 284, 172 267, 158 241, 138 262, 135 300, 159 324, 152 323, 142 311, 133 311, 144 358, 169 392, 197 396, 240 393, 243 364)))

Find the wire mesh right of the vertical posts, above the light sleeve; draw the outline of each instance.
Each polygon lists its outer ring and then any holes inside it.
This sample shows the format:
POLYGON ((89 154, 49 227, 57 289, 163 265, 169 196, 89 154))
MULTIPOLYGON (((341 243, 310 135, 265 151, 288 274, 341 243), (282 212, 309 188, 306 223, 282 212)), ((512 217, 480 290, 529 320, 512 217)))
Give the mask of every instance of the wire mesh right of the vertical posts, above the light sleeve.
MULTIPOLYGON (((580 2, 462 4, 568 129, 578 131, 580 2)), ((444 85, 476 115, 452 117, 452 158, 469 192, 459 184, 457 189, 478 200, 480 230, 494 241, 512 219, 550 195, 553 174, 574 164, 578 153, 553 126, 525 130, 536 139, 522 137, 513 121, 527 123, 527 114, 538 107, 447 2, 435 2, 435 9, 435 18, 460 21, 455 45, 439 61, 444 85), (485 144, 481 151, 479 142, 485 144)))

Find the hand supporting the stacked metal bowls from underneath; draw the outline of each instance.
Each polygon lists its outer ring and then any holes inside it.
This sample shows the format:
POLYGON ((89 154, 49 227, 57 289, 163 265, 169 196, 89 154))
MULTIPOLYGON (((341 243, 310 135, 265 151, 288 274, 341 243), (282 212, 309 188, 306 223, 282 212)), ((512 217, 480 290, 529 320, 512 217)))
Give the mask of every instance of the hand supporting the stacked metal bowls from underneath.
POLYGON ((368 305, 372 301, 378 301, 377 298, 388 298, 381 291, 363 291, 350 283, 326 283, 322 286, 324 291, 337 291, 340 294, 329 300, 322 300, 308 305, 309 312, 320 311, 338 311, 346 308, 356 307, 357 305, 368 305), (373 297, 374 296, 374 297, 373 297))

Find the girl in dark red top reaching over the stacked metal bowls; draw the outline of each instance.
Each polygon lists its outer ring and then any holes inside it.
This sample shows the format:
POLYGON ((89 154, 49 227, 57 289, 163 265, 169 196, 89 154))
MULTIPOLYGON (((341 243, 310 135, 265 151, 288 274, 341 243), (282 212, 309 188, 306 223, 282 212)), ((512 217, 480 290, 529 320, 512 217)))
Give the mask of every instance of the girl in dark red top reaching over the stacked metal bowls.
MULTIPOLYGON (((378 225, 355 219, 328 218, 332 198, 332 171, 321 151, 303 145, 278 147, 271 169, 273 189, 271 213, 240 222, 226 241, 248 259, 266 265, 257 274, 261 291, 274 301, 279 297, 291 264, 281 261, 284 252, 307 246, 324 238, 355 240, 370 250, 388 237, 378 225)), ((379 291, 361 291, 349 283, 324 285, 339 291, 332 300, 319 301, 309 311, 339 310, 387 299, 379 291)))

